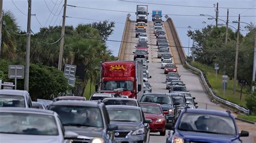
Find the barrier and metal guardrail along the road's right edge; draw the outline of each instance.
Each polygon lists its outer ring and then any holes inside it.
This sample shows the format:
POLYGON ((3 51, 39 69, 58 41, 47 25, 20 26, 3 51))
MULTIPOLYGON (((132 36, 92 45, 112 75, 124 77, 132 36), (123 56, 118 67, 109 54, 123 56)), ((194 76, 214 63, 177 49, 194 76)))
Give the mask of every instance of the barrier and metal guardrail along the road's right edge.
POLYGON ((199 76, 201 77, 201 80, 203 81, 203 84, 204 84, 205 88, 207 89, 208 93, 209 93, 214 99, 216 99, 218 102, 220 102, 220 103, 222 103, 222 104, 224 104, 224 105, 227 105, 227 106, 231 106, 231 107, 233 107, 233 108, 235 108, 235 109, 238 109, 239 111, 242 111, 242 112, 246 113, 247 115, 249 115, 249 114, 250 114, 250 110, 249 110, 249 109, 246 109, 246 108, 244 108, 244 107, 241 107, 241 106, 239 106, 239 105, 237 105, 237 104, 235 104, 235 103, 226 101, 226 99, 220 98, 218 95, 215 95, 215 94, 213 93, 212 89, 208 86, 208 84, 207 84, 207 82, 206 82, 206 80, 205 80, 205 77, 204 77, 204 75, 203 75, 203 72, 202 72, 200 69, 197 69, 197 68, 195 68, 195 67, 193 67, 193 66, 191 66, 191 65, 189 65, 189 64, 187 63, 187 61, 186 61, 186 54, 185 54, 185 52, 184 52, 184 49, 182 48, 183 46, 182 46, 182 44, 181 44, 181 41, 180 41, 180 39, 179 39, 178 32, 177 32, 177 30, 176 30, 176 27, 174 26, 174 23, 173 23, 172 19, 171 19, 171 18, 168 18, 168 19, 166 20, 166 22, 168 22, 169 25, 170 25, 171 33, 172 33, 172 35, 173 35, 173 37, 174 37, 174 42, 176 43, 177 50, 178 50, 178 53, 179 53, 179 56, 180 56, 180 59, 181 59, 181 62, 182 62, 182 64, 183 64, 183 66, 186 65, 188 68, 190 68, 190 69, 192 69, 192 70, 195 70, 195 71, 197 71, 197 72, 200 73, 199 76))

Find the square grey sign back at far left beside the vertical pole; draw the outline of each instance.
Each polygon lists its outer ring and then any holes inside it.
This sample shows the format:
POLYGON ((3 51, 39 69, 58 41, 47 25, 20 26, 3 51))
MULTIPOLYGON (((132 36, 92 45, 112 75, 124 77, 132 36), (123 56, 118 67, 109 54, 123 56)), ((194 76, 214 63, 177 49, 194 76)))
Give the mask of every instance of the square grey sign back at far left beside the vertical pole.
POLYGON ((24 66, 23 65, 9 65, 8 77, 23 79, 24 78, 24 66))

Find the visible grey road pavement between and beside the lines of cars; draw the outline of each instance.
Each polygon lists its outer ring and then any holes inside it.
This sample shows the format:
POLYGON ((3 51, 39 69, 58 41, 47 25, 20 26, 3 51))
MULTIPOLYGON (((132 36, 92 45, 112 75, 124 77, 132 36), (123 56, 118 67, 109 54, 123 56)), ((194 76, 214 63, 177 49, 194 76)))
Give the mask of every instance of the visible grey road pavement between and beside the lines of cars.
MULTIPOLYGON (((138 38, 135 38, 135 22, 131 21, 129 25, 129 32, 127 33, 127 39, 129 43, 125 45, 125 53, 124 60, 133 60, 132 52, 136 49, 136 42, 138 38)), ((164 30, 166 32, 166 37, 169 40, 169 44, 171 46, 176 46, 174 42, 175 35, 173 35, 170 25, 167 22, 164 22, 164 30)), ((150 84, 152 85, 152 92, 168 92, 165 89, 165 74, 164 70, 160 68, 161 63, 160 59, 157 59, 157 46, 156 37, 153 34, 153 22, 147 23, 146 34, 149 38, 148 43, 153 44, 149 46, 149 72, 152 78, 149 79, 150 84)), ((201 85, 201 81, 199 76, 193 74, 190 70, 185 69, 181 65, 181 61, 178 55, 178 51, 176 47, 171 47, 171 53, 173 55, 173 61, 176 63, 178 67, 178 73, 181 75, 181 80, 184 81, 188 90, 190 90, 191 95, 196 97, 196 102, 198 102, 198 106, 200 109, 208 109, 208 110, 220 110, 226 111, 226 109, 221 108, 221 106, 210 101, 207 93, 205 92, 203 86, 201 85)), ((250 132, 250 137, 243 138, 244 142, 254 142, 253 137, 256 136, 256 126, 252 124, 243 123, 241 121, 237 121, 239 126, 239 130, 247 130, 250 132)), ((150 142, 166 142, 166 138, 168 136, 168 132, 166 131, 165 137, 160 136, 159 133, 151 133, 150 142)))

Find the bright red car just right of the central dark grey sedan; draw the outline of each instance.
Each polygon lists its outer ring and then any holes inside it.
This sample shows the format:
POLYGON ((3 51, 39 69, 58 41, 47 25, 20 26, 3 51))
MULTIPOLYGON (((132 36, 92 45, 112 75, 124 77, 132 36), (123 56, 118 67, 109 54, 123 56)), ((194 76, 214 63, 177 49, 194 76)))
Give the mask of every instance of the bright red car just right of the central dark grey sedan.
POLYGON ((147 119, 151 119, 150 132, 160 132, 160 135, 165 135, 166 117, 161 105, 157 103, 139 103, 139 106, 144 112, 147 119))

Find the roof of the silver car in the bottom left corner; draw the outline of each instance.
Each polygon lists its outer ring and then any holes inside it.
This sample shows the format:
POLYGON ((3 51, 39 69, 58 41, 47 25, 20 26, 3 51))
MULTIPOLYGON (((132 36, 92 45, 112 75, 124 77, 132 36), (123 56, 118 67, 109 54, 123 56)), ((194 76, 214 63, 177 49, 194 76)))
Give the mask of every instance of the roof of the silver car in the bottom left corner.
POLYGON ((42 109, 35 109, 35 108, 15 108, 15 107, 3 107, 1 108, 0 112, 30 112, 30 113, 46 113, 49 115, 53 115, 54 111, 51 110, 42 110, 42 109))

